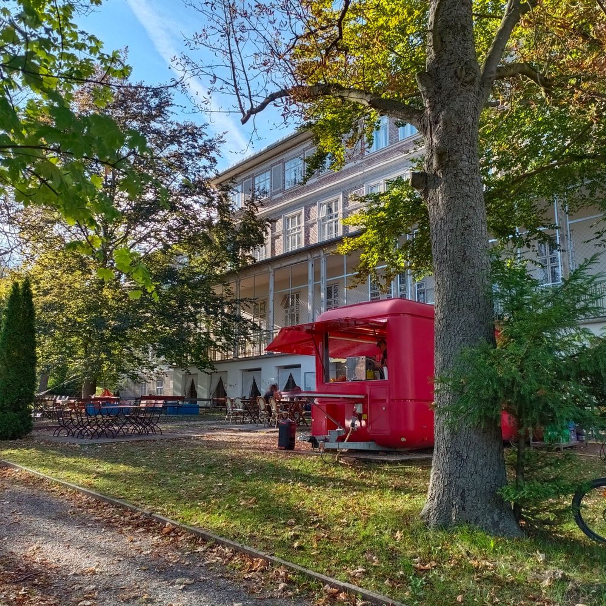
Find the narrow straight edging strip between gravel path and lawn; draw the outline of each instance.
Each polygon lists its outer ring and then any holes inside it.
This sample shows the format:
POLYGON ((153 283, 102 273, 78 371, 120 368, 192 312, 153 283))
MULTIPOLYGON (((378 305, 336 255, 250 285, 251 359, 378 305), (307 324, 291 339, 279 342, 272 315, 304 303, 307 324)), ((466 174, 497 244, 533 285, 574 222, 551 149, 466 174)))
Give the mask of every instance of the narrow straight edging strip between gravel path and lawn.
POLYGON ((282 558, 276 558, 276 556, 271 556, 268 553, 263 553, 262 551, 258 551, 253 547, 248 547, 248 545, 242 545, 241 543, 238 543, 236 541, 225 539, 224 537, 219 536, 218 534, 211 533, 208 530, 204 530, 204 528, 196 528, 193 526, 181 524, 175 520, 171 520, 170 518, 165 518, 164 516, 161 516, 158 513, 153 513, 153 511, 148 511, 141 507, 136 507, 136 505, 132 505, 126 501, 122 501, 122 499, 114 499, 113 497, 107 496, 106 494, 101 494, 95 492, 94 490, 88 490, 88 488, 78 486, 77 484, 71 484, 70 482, 65 482, 63 480, 53 478, 52 476, 48 476, 45 473, 41 473, 41 471, 35 471, 28 467, 24 467, 23 465, 13 463, 12 461, 6 461, 5 459, 0 459, 0 465, 2 467, 10 467, 20 471, 27 471, 27 473, 31 473, 35 476, 38 476, 39 478, 43 478, 50 482, 55 482, 56 484, 60 484, 65 488, 69 488, 70 490, 74 490, 80 494, 84 494, 85 496, 97 499, 98 501, 104 501, 105 503, 108 503, 110 505, 116 505, 116 507, 121 507, 123 509, 139 513, 142 516, 145 516, 145 518, 155 520, 156 522, 161 522, 161 524, 171 524, 174 527, 180 528, 181 530, 184 530, 187 533, 199 536, 201 539, 204 539, 204 541, 224 545, 225 547, 230 547, 231 549, 239 551, 240 553, 246 553, 252 558, 261 558, 267 562, 270 562, 271 564, 284 566, 298 574, 306 576, 307 578, 321 582, 322 585, 328 585, 330 587, 337 588, 341 591, 346 591, 347 593, 361 596, 361 598, 368 602, 371 602, 371 604, 379 604, 384 606, 406 606, 402 602, 396 602, 395 600, 392 600, 387 596, 383 596, 380 593, 375 593, 374 591, 363 589, 362 587, 352 585, 351 583, 338 581, 338 579, 333 579, 330 576, 317 573, 313 570, 310 570, 309 568, 304 568, 302 566, 299 566, 298 564, 293 564, 293 562, 288 562, 287 560, 283 560, 282 558))

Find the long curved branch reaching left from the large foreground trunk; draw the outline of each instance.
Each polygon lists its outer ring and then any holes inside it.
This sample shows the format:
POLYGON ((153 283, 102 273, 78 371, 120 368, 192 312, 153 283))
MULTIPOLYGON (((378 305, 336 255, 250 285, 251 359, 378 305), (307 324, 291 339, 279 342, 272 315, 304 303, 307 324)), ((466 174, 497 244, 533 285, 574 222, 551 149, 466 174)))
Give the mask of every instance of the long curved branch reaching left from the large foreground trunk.
POLYGON ((242 116, 242 124, 246 124, 251 116, 255 116, 259 112, 262 112, 274 101, 286 97, 294 97, 303 102, 313 101, 313 99, 319 99, 321 97, 343 99, 344 101, 351 101, 364 105, 365 107, 370 107, 373 110, 381 112, 382 115, 397 118, 403 122, 412 124, 414 127, 421 130, 421 116, 423 115, 423 112, 416 107, 398 101, 398 99, 385 99, 381 95, 367 93, 358 88, 347 88, 340 84, 313 84, 310 86, 295 85, 291 88, 276 90, 276 92, 267 95, 267 97, 258 105, 251 107, 242 116))

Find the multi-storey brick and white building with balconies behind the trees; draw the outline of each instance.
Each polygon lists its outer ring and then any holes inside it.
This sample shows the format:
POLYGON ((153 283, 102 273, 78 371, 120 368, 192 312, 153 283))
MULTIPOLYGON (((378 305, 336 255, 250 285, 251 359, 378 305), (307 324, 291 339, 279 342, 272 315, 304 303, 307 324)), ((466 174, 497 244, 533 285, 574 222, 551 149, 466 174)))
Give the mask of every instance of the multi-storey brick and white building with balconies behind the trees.
MULTIPOLYGON (((356 151, 339 171, 327 166, 303 182, 305 158, 314 151, 311 134, 303 132, 221 173, 216 182, 232 184, 236 209, 255 191, 257 198, 262 198, 259 215, 271 219, 267 239, 255 251, 256 262, 227 276, 235 296, 250 301, 242 306, 242 313, 261 331, 254 342, 242 342, 233 351, 216 351, 213 373, 175 368, 155 383, 142 384, 141 393, 161 390, 165 395, 198 398, 219 398, 225 393, 248 397, 264 393, 274 382, 282 390, 295 385, 313 389, 315 365, 311 356, 265 352, 280 328, 313 321, 327 309, 374 299, 405 297, 433 303, 432 278, 416 280, 410 272, 403 273, 385 292, 369 280, 359 281, 355 255, 346 257, 335 251, 344 236, 356 231, 343 225, 342 219, 359 208, 359 196, 384 191, 391 180, 407 177, 418 147, 419 136, 413 127, 398 127, 384 117, 373 145, 356 151)), ((545 285, 556 284, 582 259, 599 250, 588 242, 597 219, 597 212, 568 215, 565 205, 554 201, 545 224, 559 225, 552 234, 559 248, 539 244, 534 251, 520 253, 533 258, 536 264, 531 265, 532 271, 545 285)), ((604 257, 601 270, 606 270, 604 257)), ((606 282, 601 288, 606 302, 606 282)), ((588 320, 596 331, 605 322, 606 318, 588 320)))

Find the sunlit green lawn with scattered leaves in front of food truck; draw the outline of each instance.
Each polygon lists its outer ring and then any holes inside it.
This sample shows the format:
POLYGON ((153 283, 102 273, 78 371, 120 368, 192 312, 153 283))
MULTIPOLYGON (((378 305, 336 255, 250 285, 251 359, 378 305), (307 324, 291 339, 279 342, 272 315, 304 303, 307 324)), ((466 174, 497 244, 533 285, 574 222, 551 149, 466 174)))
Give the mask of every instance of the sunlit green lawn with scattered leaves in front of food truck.
MULTIPOLYGON (((517 541, 427 530, 418 516, 428 467, 327 465, 216 439, 26 439, 0 442, 0 456, 410 606, 606 606, 606 548, 573 525, 559 538, 517 541)), ((604 472, 599 459, 579 458, 579 479, 604 472)))

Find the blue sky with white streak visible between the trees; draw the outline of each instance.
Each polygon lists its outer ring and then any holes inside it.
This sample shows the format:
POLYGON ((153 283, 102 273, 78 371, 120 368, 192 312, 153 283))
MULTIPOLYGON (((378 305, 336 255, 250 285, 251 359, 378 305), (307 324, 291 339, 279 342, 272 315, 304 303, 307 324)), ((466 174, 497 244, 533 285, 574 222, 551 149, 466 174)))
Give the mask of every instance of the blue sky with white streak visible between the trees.
MULTIPOLYGON (((128 47, 132 78, 153 85, 179 78, 180 73, 171 65, 171 59, 184 50, 184 36, 200 29, 202 23, 201 15, 193 8, 186 7, 182 0, 104 0, 95 12, 80 18, 78 25, 98 36, 107 51, 128 47)), ((204 95, 204 82, 191 79, 188 85, 193 95, 204 95)), ((184 96, 178 96, 177 101, 188 105, 184 118, 201 124, 208 123, 213 134, 225 133, 220 168, 235 164, 291 131, 291 128, 281 124, 278 112, 266 110, 258 116, 258 131, 250 142, 251 128, 240 123, 238 114, 196 113, 184 96)), ((215 99, 213 106, 216 110, 225 110, 228 100, 215 99)))

